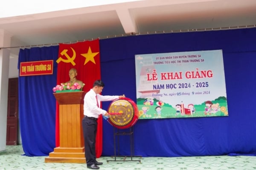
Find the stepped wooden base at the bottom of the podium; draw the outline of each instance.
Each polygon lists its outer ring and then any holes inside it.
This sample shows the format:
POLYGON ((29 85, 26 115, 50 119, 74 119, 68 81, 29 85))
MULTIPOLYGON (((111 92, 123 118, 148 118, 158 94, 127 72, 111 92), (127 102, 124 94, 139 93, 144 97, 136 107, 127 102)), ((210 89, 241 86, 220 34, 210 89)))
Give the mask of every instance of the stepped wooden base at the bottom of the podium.
POLYGON ((84 147, 64 148, 55 147, 54 151, 44 159, 45 163, 81 163, 86 164, 84 147))

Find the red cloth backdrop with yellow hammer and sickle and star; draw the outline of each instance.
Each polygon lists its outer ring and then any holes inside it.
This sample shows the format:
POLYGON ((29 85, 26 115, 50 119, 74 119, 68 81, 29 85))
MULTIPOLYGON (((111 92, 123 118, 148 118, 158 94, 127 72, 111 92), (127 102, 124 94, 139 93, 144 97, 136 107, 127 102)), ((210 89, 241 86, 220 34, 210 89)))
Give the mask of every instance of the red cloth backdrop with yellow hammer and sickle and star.
MULTIPOLYGON (((85 85, 84 92, 88 92, 96 80, 101 79, 100 74, 100 54, 99 39, 92 41, 84 41, 73 44, 59 44, 57 68, 57 84, 65 83, 70 80, 69 70, 75 68, 77 70, 76 78, 85 85)), ((70 99, 72 100, 72 99, 70 99)), ((59 136, 59 106, 56 104, 56 147, 60 145, 59 136)), ((83 136, 82 136, 83 137, 83 136)), ((98 119, 97 135, 96 135, 96 157, 102 154, 102 118, 98 119)))

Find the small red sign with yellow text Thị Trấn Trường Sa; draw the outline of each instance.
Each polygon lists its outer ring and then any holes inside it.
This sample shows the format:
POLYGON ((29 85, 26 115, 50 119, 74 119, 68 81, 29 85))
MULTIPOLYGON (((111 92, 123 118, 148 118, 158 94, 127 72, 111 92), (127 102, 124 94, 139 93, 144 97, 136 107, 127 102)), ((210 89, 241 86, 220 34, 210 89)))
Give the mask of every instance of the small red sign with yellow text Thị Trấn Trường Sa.
POLYGON ((52 75, 53 60, 20 62, 20 76, 52 75))

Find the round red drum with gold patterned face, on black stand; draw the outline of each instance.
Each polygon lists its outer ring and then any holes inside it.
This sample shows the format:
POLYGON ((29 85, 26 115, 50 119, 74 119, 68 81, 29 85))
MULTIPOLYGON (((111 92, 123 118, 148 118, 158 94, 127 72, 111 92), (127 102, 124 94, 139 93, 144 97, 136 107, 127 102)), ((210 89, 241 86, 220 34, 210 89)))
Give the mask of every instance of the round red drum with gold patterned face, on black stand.
POLYGON ((119 129, 132 127, 139 117, 137 105, 129 98, 119 98, 112 101, 108 107, 108 113, 110 114, 108 122, 119 129))

